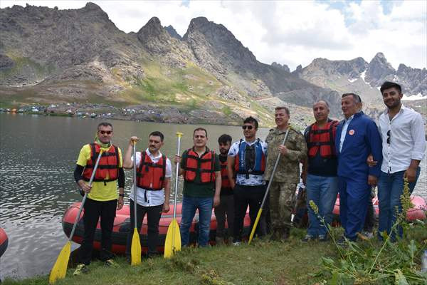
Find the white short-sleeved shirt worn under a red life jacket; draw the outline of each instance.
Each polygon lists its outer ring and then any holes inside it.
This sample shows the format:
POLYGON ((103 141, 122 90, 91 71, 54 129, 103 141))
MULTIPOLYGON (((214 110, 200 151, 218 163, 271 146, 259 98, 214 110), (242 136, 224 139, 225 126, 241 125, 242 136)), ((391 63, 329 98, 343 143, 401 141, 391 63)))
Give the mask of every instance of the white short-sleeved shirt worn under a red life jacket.
MULTIPOLYGON (((151 152, 149 152, 148 148, 145 150, 147 152, 149 158, 151 158, 152 162, 156 163, 159 161, 160 157, 162 157, 162 152, 159 152, 159 155, 154 157, 151 152)), ((139 164, 141 162, 141 152, 137 152, 137 169, 139 167, 139 164)), ((131 157, 133 162, 133 156, 131 157)), ((165 176, 167 178, 172 177, 172 165, 169 158, 166 159, 166 171, 165 176)), ((134 193, 133 193, 134 187, 132 185, 132 190, 130 192, 130 199, 134 199, 134 193)), ((157 190, 157 191, 147 191, 144 188, 137 187, 137 204, 140 204, 144 207, 151 207, 151 206, 159 206, 164 203, 164 189, 157 190), (147 197, 147 200, 145 199, 147 197)))

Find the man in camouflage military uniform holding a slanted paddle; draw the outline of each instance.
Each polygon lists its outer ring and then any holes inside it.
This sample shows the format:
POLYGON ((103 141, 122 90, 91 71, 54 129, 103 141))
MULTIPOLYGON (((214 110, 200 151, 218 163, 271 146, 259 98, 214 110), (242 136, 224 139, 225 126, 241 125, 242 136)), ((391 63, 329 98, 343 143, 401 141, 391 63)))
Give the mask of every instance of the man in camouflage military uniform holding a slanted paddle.
POLYGON ((289 118, 288 108, 275 108, 277 127, 271 129, 265 138, 268 148, 264 179, 266 181, 273 179, 270 185, 270 215, 273 227, 271 239, 273 240, 289 238, 290 215, 295 201, 295 190, 300 180, 300 161, 307 155, 304 136, 288 125, 289 118), (288 128, 288 138, 285 145, 282 145, 288 128), (272 177, 279 152, 279 164, 272 177))

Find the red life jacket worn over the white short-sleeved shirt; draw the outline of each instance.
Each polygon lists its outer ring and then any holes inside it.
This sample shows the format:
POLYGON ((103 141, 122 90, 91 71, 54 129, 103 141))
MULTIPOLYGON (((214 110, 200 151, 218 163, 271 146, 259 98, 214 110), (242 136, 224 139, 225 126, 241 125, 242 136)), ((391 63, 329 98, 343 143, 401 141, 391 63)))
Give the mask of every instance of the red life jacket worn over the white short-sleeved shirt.
POLYGON ((145 190, 162 190, 165 176, 166 156, 162 155, 159 161, 154 163, 147 152, 142 151, 137 168, 137 186, 145 190))

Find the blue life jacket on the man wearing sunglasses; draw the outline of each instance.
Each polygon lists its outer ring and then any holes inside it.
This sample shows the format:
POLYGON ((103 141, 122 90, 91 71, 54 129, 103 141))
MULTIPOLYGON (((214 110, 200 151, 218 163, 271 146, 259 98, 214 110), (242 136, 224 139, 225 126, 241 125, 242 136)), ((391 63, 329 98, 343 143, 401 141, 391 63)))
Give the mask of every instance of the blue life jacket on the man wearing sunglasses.
POLYGON ((234 170, 238 174, 263 175, 265 170, 265 155, 263 145, 258 138, 253 145, 248 145, 243 139, 238 143, 238 153, 234 160, 234 170))

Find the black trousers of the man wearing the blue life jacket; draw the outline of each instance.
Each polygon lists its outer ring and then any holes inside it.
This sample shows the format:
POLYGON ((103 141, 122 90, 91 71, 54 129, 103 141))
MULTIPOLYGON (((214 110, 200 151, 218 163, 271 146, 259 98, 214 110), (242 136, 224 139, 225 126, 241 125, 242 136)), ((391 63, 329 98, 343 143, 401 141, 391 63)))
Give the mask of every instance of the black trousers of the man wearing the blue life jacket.
MULTIPOLYGON (((243 234, 243 221, 246 216, 246 209, 249 206, 249 217, 251 217, 251 230, 260 209, 263 197, 265 195, 265 185, 246 186, 236 185, 233 189, 234 194, 234 234, 233 242, 241 242, 243 234)), ((261 213, 260 221, 256 227, 255 233, 258 237, 266 234, 265 213, 261 213)))

